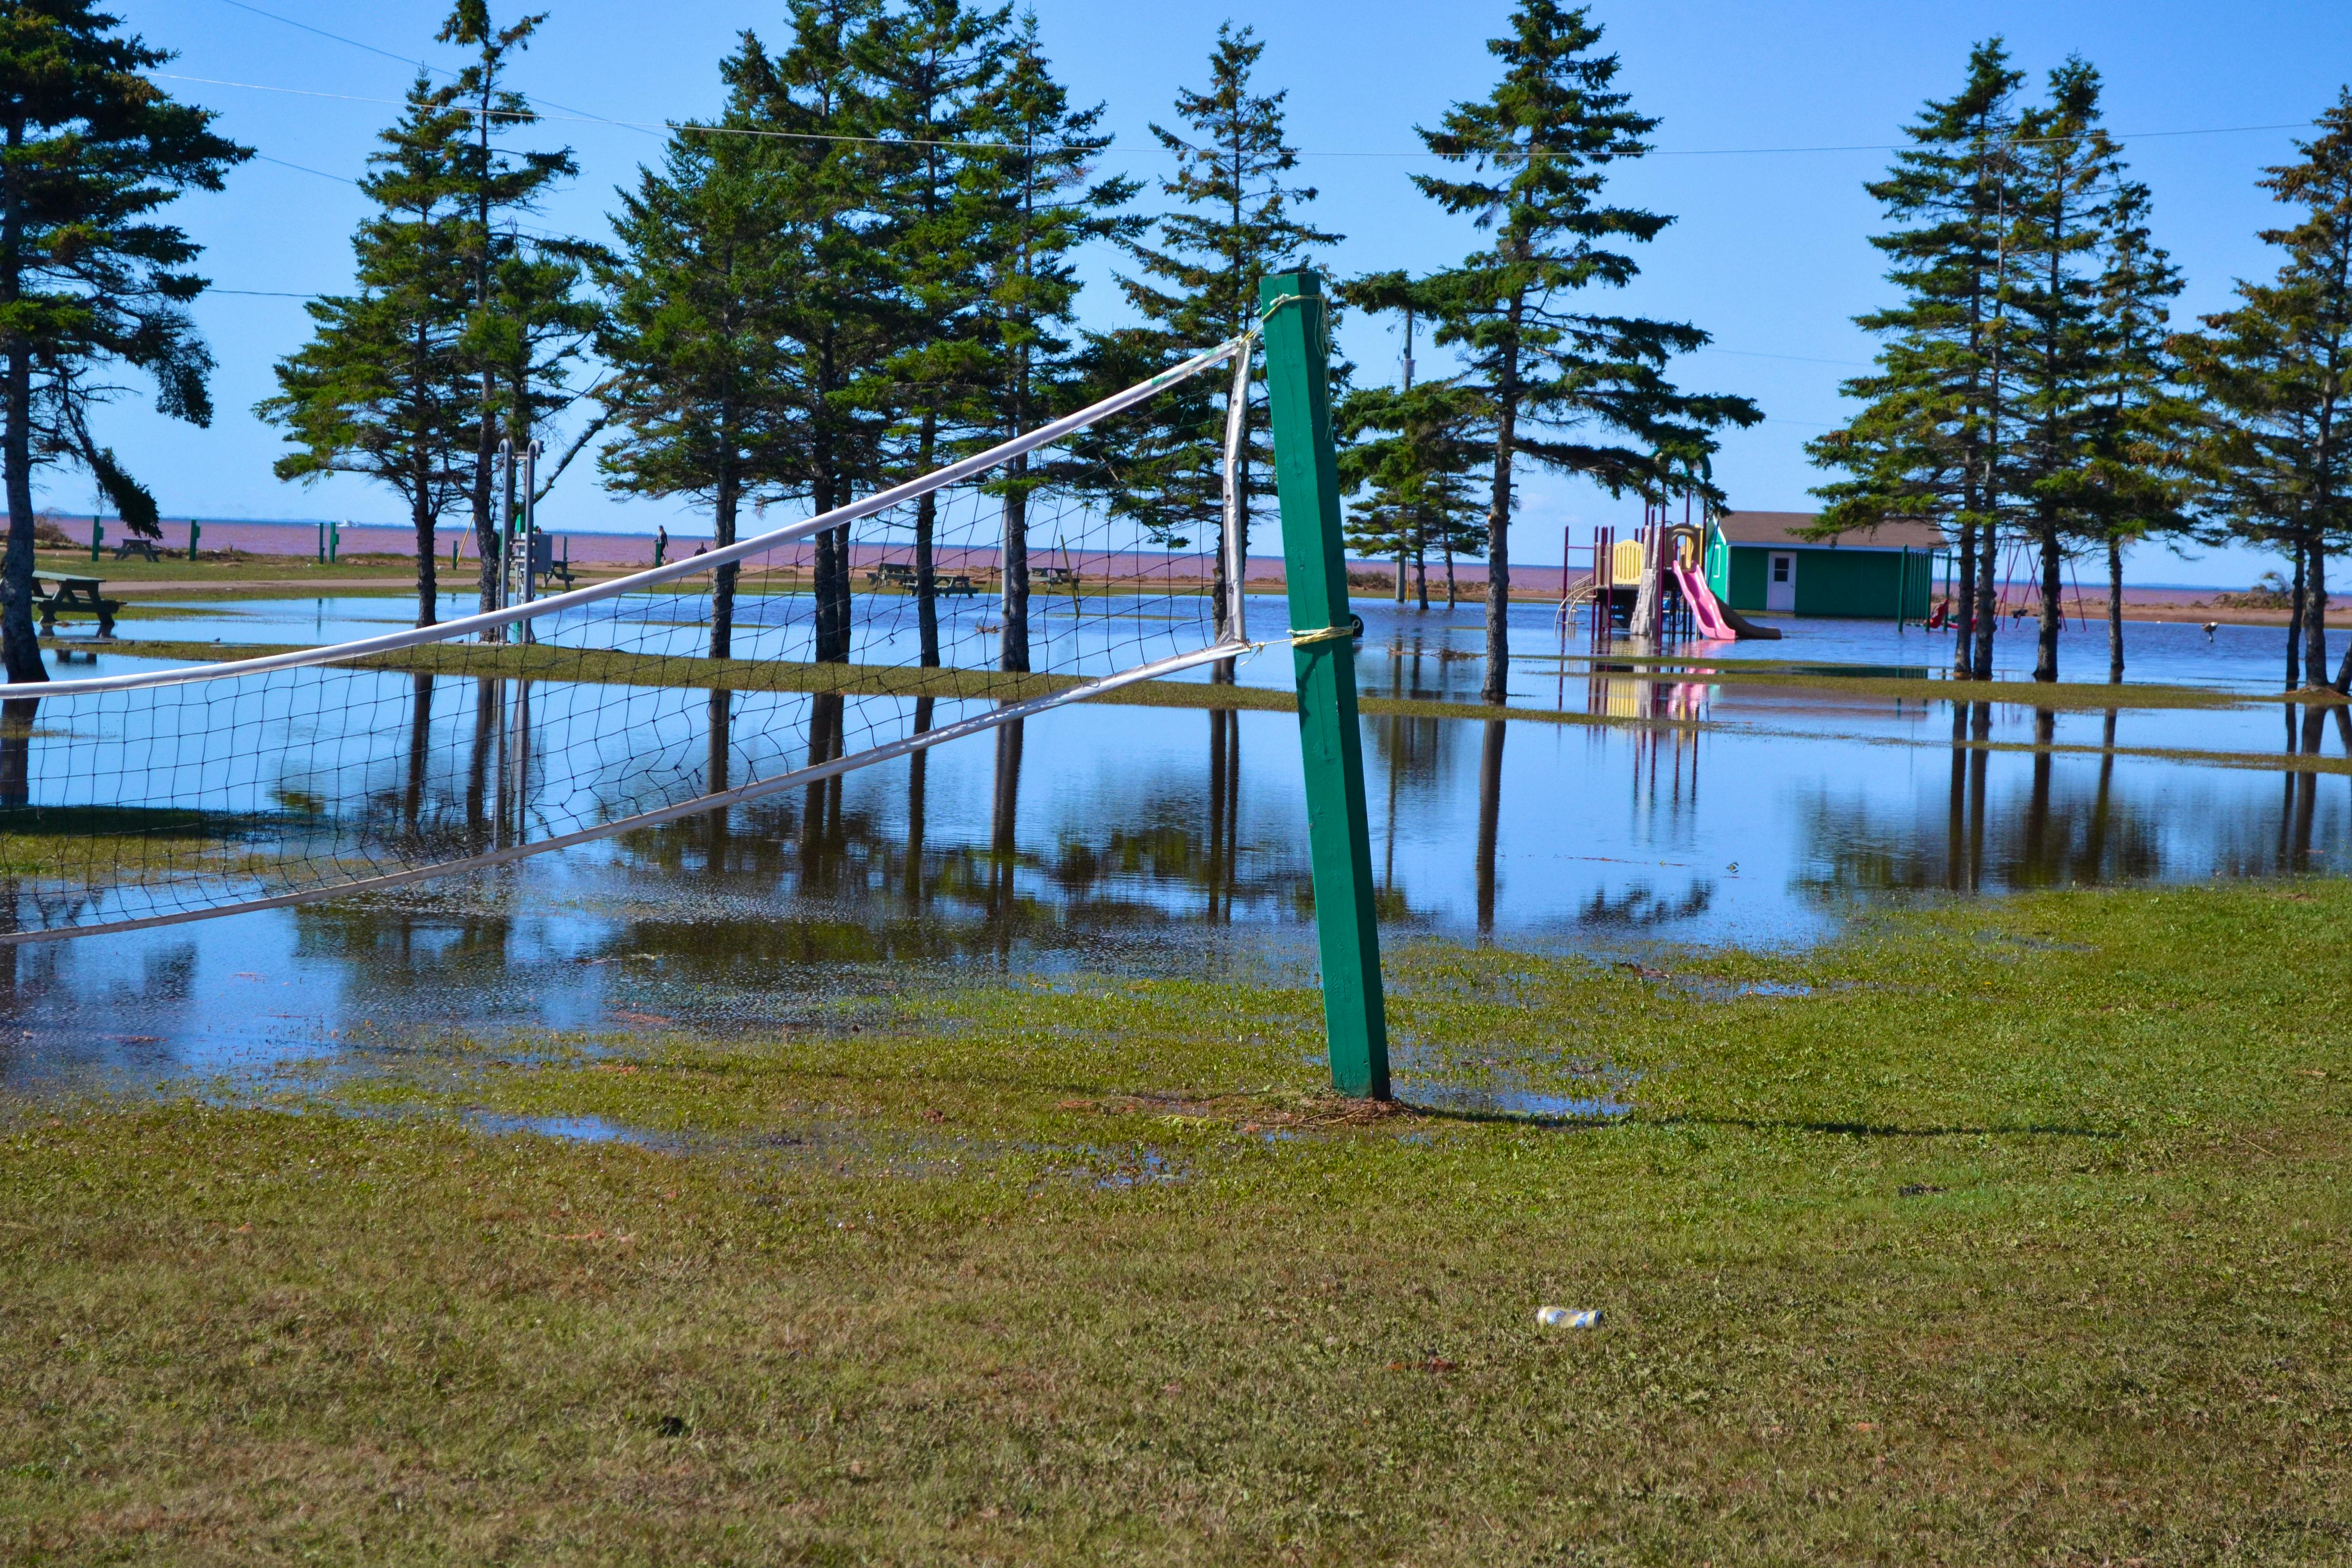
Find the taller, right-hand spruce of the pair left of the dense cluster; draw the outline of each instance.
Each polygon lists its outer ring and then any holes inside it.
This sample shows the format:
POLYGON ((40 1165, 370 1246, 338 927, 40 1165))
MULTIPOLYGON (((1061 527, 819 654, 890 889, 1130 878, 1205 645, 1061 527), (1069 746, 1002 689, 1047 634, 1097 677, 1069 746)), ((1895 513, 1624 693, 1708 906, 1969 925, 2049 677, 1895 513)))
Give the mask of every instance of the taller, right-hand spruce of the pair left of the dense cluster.
POLYGON ((456 0, 435 35, 440 42, 473 49, 473 61, 435 92, 435 103, 468 115, 463 132, 452 136, 445 158, 463 186, 459 244, 470 287, 466 355, 473 360, 475 376, 473 536, 480 555, 482 609, 494 609, 499 597, 503 520, 494 512, 492 465, 499 440, 510 435, 503 376, 510 360, 501 362, 501 355, 515 339, 508 317, 517 301, 499 292, 501 263, 524 244, 515 219, 536 209, 557 181, 579 174, 569 148, 515 153, 501 146, 503 136, 539 122, 532 101, 506 87, 506 75, 510 56, 529 47, 541 21, 546 21, 546 12, 499 28, 489 19, 487 0, 456 0))

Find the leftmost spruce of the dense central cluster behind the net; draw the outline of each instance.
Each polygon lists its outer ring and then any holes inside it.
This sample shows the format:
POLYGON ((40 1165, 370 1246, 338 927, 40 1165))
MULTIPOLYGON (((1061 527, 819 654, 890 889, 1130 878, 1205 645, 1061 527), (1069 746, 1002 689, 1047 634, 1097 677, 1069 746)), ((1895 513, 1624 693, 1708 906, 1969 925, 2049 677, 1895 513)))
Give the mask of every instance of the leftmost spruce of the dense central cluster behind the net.
MULTIPOLYGON (((600 268, 612 313, 597 348, 619 435, 597 463, 612 489, 706 501, 724 548, 743 505, 781 480, 781 306, 797 256, 779 242, 767 148, 729 134, 757 118, 769 87, 760 42, 746 35, 720 73, 729 106, 717 125, 680 127, 661 169, 640 169, 614 214, 619 256, 600 268)), ((736 567, 713 574, 710 595, 710 658, 731 658, 736 567)))

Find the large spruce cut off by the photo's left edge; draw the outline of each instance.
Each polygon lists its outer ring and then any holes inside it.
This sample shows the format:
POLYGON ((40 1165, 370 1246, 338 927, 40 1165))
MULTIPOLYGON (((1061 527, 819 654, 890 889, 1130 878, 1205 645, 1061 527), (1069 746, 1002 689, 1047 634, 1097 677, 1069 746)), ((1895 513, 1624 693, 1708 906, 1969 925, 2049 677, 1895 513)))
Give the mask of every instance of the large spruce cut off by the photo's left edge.
POLYGON ((0 665, 47 679, 33 635, 33 473, 78 463, 122 522, 155 536, 155 498, 89 433, 111 367, 155 381, 155 407, 212 423, 212 353, 188 301, 198 244, 160 209, 219 190, 249 148, 212 134, 214 115, 174 103, 148 71, 169 63, 87 0, 0 9, 0 665))

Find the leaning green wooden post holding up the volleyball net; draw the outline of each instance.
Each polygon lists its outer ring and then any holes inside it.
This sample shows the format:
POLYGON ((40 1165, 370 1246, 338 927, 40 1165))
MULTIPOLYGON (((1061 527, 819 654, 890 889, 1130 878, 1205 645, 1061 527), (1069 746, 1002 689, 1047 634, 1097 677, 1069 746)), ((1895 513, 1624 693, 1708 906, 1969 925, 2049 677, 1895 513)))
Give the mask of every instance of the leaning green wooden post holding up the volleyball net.
MULTIPOLYGON (((1275 491, 1291 630, 1348 625, 1338 458, 1331 454, 1331 339, 1322 277, 1282 273, 1258 284, 1265 317, 1265 397, 1275 418, 1275 491), (1282 303, 1296 299, 1298 303, 1282 303)), ((1388 1004, 1371 898, 1371 827, 1364 816, 1364 736, 1355 722, 1355 639, 1291 646, 1298 665, 1298 750, 1308 771, 1308 849, 1315 863, 1315 936, 1322 947, 1331 1086, 1388 1098, 1388 1004)))

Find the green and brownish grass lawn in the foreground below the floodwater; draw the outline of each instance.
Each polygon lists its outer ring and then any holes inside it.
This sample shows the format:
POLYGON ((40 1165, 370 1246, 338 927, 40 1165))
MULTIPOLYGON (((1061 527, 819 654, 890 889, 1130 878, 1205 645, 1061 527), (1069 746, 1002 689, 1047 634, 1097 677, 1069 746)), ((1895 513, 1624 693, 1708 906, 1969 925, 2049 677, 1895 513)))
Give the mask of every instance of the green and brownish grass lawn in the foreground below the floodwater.
POLYGON ((2347 922, 1418 945, 1390 1114, 1087 976, 14 1103, 0 1559, 2352 1561, 2347 922))

